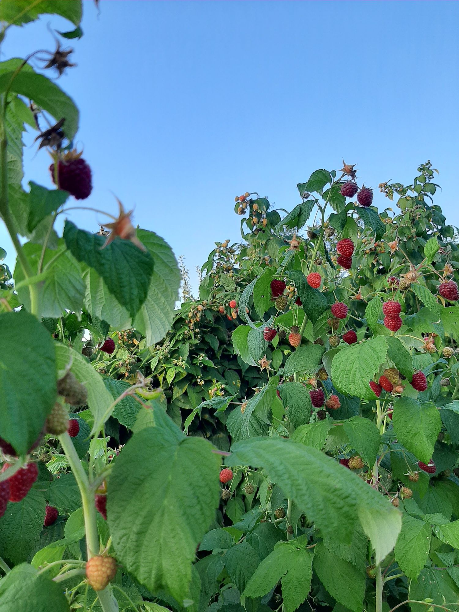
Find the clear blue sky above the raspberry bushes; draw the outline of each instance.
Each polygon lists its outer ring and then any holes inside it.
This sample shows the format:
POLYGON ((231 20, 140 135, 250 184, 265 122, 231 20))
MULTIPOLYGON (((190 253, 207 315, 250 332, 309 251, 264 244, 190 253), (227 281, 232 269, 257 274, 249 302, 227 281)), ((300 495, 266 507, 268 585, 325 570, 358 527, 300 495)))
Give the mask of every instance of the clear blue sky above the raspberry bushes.
MULTIPOLYGON (((194 267, 214 241, 240 237, 234 196, 291 210, 297 182, 357 163, 359 182, 440 171, 435 203, 459 225, 457 2, 84 2, 78 66, 58 83, 80 107, 77 144, 92 166, 86 203, 135 207, 194 267)), ((54 48, 45 16, 12 28, 2 59, 54 48)), ((67 44, 67 43, 65 43, 67 44)), ((35 135, 34 135, 35 136, 35 135)), ((44 151, 26 178, 51 187, 44 151)), ((101 215, 74 212, 97 231, 101 215)), ((12 252, 0 228, 0 245, 12 252)), ((12 258, 8 261, 12 264, 12 258)))

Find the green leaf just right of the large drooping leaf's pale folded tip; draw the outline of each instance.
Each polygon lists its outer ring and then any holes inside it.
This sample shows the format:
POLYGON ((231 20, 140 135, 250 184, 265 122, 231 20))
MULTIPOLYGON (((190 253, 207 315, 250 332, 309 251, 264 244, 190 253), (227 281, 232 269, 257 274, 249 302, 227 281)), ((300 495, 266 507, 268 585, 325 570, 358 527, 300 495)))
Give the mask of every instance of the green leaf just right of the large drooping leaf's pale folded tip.
POLYGON ((416 580, 430 550, 430 527, 408 514, 403 515, 401 531, 395 544, 395 559, 408 578, 416 580))

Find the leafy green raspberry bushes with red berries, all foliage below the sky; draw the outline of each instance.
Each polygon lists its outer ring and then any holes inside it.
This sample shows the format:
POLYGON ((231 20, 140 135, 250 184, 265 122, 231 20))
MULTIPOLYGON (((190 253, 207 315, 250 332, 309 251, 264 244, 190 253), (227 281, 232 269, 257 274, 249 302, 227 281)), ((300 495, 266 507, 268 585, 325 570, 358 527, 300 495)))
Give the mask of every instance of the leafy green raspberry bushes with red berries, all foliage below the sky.
MULTIPOLYGON (((2 0, 2 37, 40 12, 78 28, 81 3, 2 0)), ((31 61, 0 64, 0 609, 459 610, 459 257, 430 162, 379 185, 400 212, 344 162, 283 217, 237 196, 241 244, 174 313, 173 253, 121 203, 54 230, 91 168, 31 61), (23 187, 24 123, 67 191, 23 187)))

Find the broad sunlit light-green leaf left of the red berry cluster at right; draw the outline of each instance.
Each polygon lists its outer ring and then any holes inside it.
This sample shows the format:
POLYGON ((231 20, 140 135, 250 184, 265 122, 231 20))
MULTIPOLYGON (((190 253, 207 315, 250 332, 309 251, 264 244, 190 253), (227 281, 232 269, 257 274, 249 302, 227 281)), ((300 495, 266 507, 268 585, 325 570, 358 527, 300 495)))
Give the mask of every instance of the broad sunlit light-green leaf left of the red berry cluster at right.
POLYGON ((369 383, 386 355, 387 343, 383 336, 341 349, 332 361, 334 386, 342 393, 357 395, 362 400, 373 399, 375 395, 369 383))

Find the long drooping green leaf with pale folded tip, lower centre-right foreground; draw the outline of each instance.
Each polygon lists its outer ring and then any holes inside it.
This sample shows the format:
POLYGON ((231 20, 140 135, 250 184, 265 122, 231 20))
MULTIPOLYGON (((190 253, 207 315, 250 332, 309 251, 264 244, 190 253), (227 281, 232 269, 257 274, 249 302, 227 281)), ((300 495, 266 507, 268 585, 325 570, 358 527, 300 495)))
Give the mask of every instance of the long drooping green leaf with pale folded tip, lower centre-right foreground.
POLYGON ((324 534, 349 541, 358 518, 375 548, 377 562, 394 547, 400 513, 356 474, 324 453, 275 438, 245 440, 232 449, 227 463, 266 469, 286 497, 293 499, 324 534), (324 487, 324 482, 334 485, 324 487))

